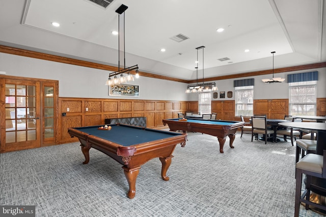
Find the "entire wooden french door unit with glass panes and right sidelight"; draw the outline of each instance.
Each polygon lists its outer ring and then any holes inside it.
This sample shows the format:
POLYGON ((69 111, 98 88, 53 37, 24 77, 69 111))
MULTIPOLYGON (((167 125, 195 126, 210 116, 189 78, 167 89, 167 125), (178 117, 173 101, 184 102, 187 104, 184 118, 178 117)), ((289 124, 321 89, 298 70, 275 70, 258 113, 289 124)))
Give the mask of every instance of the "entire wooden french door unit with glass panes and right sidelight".
POLYGON ((0 152, 55 144, 56 85, 1 79, 0 152))

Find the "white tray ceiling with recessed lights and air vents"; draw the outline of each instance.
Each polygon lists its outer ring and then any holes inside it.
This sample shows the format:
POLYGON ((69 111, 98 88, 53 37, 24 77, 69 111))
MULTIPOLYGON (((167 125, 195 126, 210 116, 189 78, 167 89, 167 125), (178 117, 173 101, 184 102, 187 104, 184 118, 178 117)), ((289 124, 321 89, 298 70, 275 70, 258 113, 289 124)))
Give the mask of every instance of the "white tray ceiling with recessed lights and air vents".
POLYGON ((126 67, 191 80, 200 46, 205 77, 270 69, 271 51, 275 68, 326 61, 324 0, 114 0, 106 9, 87 0, 2 0, 0 44, 117 66, 111 32, 121 4, 128 7, 126 67), (189 39, 170 39, 178 34, 189 39))

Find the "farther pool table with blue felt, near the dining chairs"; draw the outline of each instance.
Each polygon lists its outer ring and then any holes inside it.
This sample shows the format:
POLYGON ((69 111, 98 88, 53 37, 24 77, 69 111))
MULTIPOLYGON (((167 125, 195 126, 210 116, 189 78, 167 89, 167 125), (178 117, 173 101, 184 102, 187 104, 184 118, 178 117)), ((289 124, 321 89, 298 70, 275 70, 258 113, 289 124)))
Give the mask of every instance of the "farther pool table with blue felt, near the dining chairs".
POLYGON ((230 138, 230 147, 234 148, 233 141, 235 139, 235 132, 238 128, 244 126, 242 121, 231 120, 208 120, 199 118, 186 118, 186 121, 181 118, 164 119, 164 125, 168 125, 170 131, 182 130, 205 133, 218 137, 220 143, 220 152, 223 153, 223 147, 226 137, 230 138))

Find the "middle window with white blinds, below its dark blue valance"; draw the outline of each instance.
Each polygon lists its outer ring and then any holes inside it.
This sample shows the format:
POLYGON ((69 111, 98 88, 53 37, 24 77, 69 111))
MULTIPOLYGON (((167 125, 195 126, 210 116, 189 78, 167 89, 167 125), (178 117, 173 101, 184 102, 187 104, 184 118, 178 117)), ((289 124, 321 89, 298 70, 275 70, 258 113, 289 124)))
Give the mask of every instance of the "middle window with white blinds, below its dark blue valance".
POLYGON ((235 115, 253 116, 254 86, 235 87, 235 115))

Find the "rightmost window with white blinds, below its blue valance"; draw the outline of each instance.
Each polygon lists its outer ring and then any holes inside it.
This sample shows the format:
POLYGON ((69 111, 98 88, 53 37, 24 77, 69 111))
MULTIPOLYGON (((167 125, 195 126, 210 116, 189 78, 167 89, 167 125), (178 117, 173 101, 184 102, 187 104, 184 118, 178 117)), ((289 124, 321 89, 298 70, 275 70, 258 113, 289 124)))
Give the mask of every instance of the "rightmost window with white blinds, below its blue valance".
POLYGON ((316 115, 317 81, 289 83, 289 114, 316 115))

